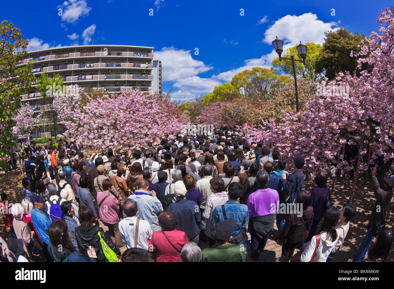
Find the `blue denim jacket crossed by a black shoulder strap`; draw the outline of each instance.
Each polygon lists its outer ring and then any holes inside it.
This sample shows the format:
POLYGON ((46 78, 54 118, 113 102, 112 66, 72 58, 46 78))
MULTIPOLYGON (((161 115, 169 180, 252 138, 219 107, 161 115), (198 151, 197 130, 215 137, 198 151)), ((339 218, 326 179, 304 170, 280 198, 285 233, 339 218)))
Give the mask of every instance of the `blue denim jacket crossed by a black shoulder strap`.
MULTIPOLYGON (((224 204, 224 210, 226 211, 227 219, 234 219, 237 222, 237 227, 232 236, 237 234, 242 228, 247 230, 249 223, 249 210, 247 205, 240 204, 237 201, 227 201, 224 204)), ((211 228, 214 227, 216 223, 223 222, 223 211, 221 206, 216 206, 214 214, 212 215, 211 228)))

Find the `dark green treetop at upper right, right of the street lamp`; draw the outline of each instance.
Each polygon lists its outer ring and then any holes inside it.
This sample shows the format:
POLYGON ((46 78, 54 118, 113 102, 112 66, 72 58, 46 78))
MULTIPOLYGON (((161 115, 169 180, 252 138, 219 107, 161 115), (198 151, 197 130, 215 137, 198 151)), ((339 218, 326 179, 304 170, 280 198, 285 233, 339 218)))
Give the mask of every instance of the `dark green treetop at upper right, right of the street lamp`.
MULTIPOLYGON (((338 72, 354 72, 359 57, 351 57, 350 52, 360 52, 365 35, 352 34, 345 28, 326 32, 322 51, 316 59, 316 73, 324 73, 328 79, 334 79, 338 72)), ((364 65, 365 68, 366 64, 364 65)))

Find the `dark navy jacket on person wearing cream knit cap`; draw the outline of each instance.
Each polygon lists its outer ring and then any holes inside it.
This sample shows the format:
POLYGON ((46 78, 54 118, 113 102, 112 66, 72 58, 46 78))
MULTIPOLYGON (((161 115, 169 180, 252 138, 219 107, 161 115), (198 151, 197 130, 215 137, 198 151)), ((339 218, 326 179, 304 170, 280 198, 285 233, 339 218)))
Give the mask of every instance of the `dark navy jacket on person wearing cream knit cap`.
POLYGON ((168 207, 178 217, 178 229, 185 232, 188 239, 195 238, 200 233, 201 213, 195 201, 180 199, 168 207))

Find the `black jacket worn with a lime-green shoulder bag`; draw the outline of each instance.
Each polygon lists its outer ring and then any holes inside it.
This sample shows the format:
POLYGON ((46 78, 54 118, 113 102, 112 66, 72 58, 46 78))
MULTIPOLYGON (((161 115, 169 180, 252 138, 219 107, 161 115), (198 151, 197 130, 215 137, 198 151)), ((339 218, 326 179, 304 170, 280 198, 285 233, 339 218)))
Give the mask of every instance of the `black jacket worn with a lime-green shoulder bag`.
POLYGON ((97 254, 97 261, 105 260, 106 257, 101 247, 100 237, 99 234, 97 234, 99 230, 102 239, 105 241, 108 247, 110 247, 117 255, 120 255, 121 251, 112 242, 111 238, 104 236, 104 230, 98 225, 78 226, 74 229, 75 239, 78 245, 78 251, 87 256, 87 251, 84 246, 82 246, 83 244, 86 244, 88 246, 92 246, 92 248, 95 249, 97 254))

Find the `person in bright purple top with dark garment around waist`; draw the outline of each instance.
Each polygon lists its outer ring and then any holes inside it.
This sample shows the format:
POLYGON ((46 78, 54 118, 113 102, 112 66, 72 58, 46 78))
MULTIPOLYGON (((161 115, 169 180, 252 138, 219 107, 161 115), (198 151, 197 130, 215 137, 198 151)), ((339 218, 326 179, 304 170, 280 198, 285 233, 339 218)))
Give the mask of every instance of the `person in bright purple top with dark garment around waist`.
POLYGON ((249 226, 251 236, 251 257, 257 261, 259 250, 264 250, 268 236, 273 230, 275 214, 279 209, 279 195, 276 190, 267 187, 268 173, 258 171, 256 182, 258 190, 251 193, 247 199, 249 209, 249 226), (273 207, 272 204, 275 204, 273 207))

